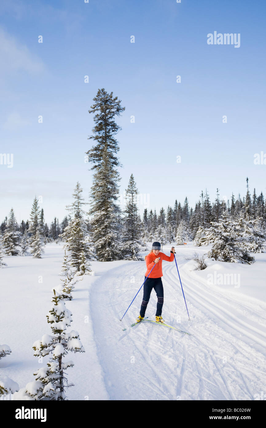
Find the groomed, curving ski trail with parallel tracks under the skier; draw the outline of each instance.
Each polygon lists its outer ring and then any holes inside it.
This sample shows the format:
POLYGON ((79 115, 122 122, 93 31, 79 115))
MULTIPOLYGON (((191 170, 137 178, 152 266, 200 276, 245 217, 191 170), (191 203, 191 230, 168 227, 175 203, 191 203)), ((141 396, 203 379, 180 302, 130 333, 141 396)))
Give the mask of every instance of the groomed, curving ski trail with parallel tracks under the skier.
MULTIPOLYGON (((190 321, 174 263, 164 264, 164 318, 194 336, 150 323, 131 327, 143 289, 119 321, 144 280, 141 262, 126 264, 126 278, 125 265, 109 270, 91 288, 94 339, 110 399, 253 400, 266 384, 265 303, 211 288, 183 269, 184 257, 176 260, 190 321)), ((152 291, 149 319, 156 303, 152 291)))

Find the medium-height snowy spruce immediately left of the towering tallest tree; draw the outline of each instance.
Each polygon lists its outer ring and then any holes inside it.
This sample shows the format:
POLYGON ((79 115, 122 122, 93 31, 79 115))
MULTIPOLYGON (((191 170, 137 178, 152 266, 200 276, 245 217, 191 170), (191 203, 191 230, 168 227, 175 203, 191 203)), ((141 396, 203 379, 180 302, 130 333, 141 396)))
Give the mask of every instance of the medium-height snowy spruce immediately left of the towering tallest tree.
MULTIPOLYGON (((73 219, 70 220, 68 226, 64 228, 64 232, 59 235, 63 241, 64 249, 70 254, 70 265, 76 269, 76 272, 80 271, 82 265, 81 257, 82 251, 85 254, 86 259, 91 259, 93 257, 92 251, 90 249, 90 240, 88 238, 89 232, 87 223, 83 218, 83 214, 87 214, 83 209, 83 205, 88 205, 87 202, 82 198, 82 187, 79 182, 77 182, 74 193, 74 201, 71 205, 67 205, 67 210, 73 214, 73 219)), ((90 264, 86 263, 86 273, 90 273, 90 264)))

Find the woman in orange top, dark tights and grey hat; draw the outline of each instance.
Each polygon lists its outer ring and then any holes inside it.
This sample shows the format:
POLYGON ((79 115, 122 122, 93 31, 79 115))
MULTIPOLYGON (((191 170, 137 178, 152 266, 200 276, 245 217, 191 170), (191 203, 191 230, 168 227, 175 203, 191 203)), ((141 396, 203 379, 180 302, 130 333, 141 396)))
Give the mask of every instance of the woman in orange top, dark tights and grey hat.
POLYGON ((152 270, 152 272, 150 273, 149 277, 144 282, 143 300, 142 300, 142 303, 140 306, 140 315, 136 320, 137 322, 140 322, 141 320, 143 320, 147 304, 149 303, 149 297, 151 295, 152 288, 154 288, 155 292, 157 294, 157 298, 158 298, 157 311, 155 314, 155 321, 161 322, 164 324, 164 320, 161 317, 162 307, 163 307, 163 303, 164 303, 164 288, 163 288, 163 283, 161 280, 161 276, 163 276, 162 262, 163 262, 163 260, 167 260, 167 262, 172 262, 174 260, 175 248, 174 247, 171 248, 170 257, 166 256, 164 253, 161 253, 160 250, 161 250, 160 242, 154 242, 152 244, 152 251, 148 254, 148 256, 145 256, 145 261, 146 261, 146 266, 147 266, 147 271, 145 273, 145 279, 147 278, 147 276, 149 275, 151 270, 152 270), (160 260, 159 260, 159 258, 160 258, 160 260), (155 266, 154 269, 152 269, 153 266, 155 266))

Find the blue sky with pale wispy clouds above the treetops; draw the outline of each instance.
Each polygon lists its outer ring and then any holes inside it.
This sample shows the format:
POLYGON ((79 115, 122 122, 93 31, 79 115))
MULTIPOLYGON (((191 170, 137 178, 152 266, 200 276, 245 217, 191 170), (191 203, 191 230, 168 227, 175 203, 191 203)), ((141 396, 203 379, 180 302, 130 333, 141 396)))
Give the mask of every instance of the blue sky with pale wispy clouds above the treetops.
POLYGON ((266 194, 266 165, 254 165, 266 153, 265 12, 256 0, 2 0, 0 153, 14 164, 0 165, 0 221, 11 207, 29 218, 35 195, 45 220, 61 221, 77 181, 88 201, 88 110, 99 88, 126 107, 121 193, 133 173, 148 209, 185 196, 194 207, 206 187, 212 201, 217 187, 244 196, 247 176, 266 194), (240 33, 240 47, 208 45, 214 31, 240 33))

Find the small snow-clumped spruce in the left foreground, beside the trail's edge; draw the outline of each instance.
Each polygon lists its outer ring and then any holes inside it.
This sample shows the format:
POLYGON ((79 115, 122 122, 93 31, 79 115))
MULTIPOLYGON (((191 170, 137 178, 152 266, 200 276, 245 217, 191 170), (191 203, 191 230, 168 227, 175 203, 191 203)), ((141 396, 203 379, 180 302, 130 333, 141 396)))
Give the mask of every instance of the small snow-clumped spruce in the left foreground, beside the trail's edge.
POLYGON ((45 334, 32 346, 36 357, 45 357, 49 354, 52 357, 47 363, 47 368, 42 367, 34 373, 35 381, 29 382, 26 388, 20 390, 20 399, 26 396, 32 400, 65 400, 65 389, 73 386, 73 383, 67 382, 65 371, 68 367, 73 367, 74 363, 73 361, 64 362, 63 358, 69 351, 85 352, 79 333, 74 330, 66 333, 72 321, 72 313, 59 299, 55 290, 52 302, 53 306, 47 315, 47 322, 51 324, 53 335, 45 334))

